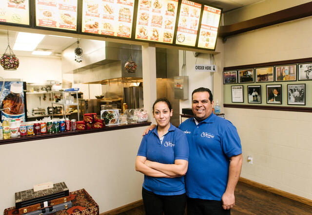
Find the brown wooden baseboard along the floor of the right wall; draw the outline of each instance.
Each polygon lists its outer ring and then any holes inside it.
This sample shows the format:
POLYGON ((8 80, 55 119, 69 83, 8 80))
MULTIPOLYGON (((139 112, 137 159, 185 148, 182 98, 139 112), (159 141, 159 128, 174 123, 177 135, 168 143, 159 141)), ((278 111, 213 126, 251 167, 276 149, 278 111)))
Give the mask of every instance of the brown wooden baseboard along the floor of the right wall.
POLYGON ((301 202, 303 204, 307 204, 307 205, 312 206, 312 200, 310 200, 308 198, 300 197, 300 196, 294 195, 292 193, 288 193, 288 192, 276 189, 274 187, 270 187, 270 186, 264 185, 262 183, 254 182, 254 181, 251 181, 249 179, 242 178, 242 177, 239 178, 239 182, 243 182, 243 183, 249 184, 251 186, 260 188, 262 190, 266 190, 266 191, 269 191, 271 193, 277 194, 279 196, 290 198, 292 200, 295 200, 295 201, 301 202))

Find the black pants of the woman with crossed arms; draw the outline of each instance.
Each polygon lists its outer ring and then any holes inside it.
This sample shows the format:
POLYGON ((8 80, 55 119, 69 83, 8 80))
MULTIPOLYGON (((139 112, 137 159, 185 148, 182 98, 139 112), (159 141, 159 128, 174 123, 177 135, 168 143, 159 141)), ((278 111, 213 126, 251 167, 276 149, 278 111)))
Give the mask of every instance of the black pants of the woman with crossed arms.
POLYGON ((186 194, 175 196, 156 195, 142 187, 142 198, 146 215, 183 215, 186 194))

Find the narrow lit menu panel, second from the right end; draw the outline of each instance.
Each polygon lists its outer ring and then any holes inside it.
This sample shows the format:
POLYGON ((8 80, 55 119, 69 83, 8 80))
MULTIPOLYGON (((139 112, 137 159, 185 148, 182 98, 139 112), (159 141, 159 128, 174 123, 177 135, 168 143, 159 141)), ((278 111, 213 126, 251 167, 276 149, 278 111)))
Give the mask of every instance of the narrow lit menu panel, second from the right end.
POLYGON ((201 4, 182 0, 176 32, 176 44, 195 46, 201 4))

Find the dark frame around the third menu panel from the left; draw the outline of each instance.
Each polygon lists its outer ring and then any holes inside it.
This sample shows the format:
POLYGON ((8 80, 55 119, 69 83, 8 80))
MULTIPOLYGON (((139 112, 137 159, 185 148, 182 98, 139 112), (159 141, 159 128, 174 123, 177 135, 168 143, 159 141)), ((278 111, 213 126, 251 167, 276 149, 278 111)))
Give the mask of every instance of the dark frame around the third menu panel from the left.
MULTIPOLYGON (((134 28, 136 27, 135 23, 137 21, 137 6, 138 6, 138 1, 134 0, 134 6, 133 6, 133 20, 132 20, 132 29, 131 29, 131 37, 127 38, 127 37, 120 37, 120 36, 111 36, 111 35, 106 35, 106 34, 100 34, 100 33, 88 33, 88 32, 82 32, 82 13, 83 13, 83 3, 82 0, 79 0, 79 2, 81 1, 81 8, 80 8, 80 26, 79 26, 79 34, 83 34, 83 35, 90 35, 90 36, 98 36, 98 37, 102 37, 102 38, 114 38, 114 39, 121 39, 121 40, 130 40, 130 41, 135 41, 135 37, 134 37, 134 28)), ((141 41, 142 42, 142 41, 141 41)))

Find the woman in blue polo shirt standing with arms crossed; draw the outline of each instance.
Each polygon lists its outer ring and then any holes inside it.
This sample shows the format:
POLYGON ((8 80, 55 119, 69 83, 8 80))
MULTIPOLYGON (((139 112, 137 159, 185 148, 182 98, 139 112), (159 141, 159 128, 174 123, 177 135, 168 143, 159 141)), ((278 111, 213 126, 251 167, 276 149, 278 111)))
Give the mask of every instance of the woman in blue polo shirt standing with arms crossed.
POLYGON ((168 99, 154 102, 157 127, 143 137, 137 152, 136 170, 144 174, 142 198, 146 215, 184 214, 189 145, 186 135, 170 123, 172 113, 168 99))

